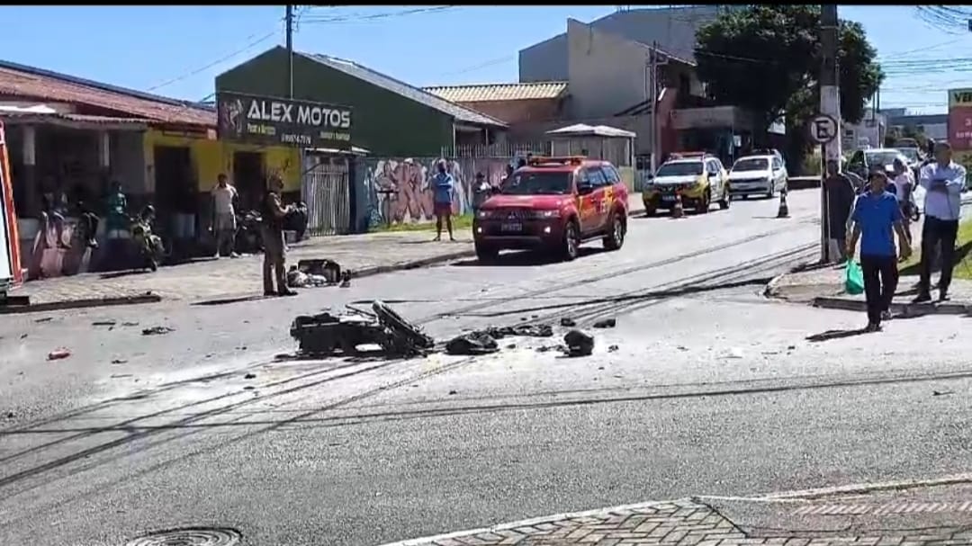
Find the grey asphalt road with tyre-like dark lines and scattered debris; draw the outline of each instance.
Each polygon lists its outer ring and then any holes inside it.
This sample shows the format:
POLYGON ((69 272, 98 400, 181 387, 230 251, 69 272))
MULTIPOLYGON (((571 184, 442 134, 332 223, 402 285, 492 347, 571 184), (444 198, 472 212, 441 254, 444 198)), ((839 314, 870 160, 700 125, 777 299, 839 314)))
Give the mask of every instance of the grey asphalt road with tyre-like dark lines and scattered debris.
POLYGON ((249 545, 369 545, 966 470, 962 320, 812 342, 863 318, 757 295, 816 256, 816 195, 793 192, 787 220, 759 200, 633 219, 621 251, 595 244, 572 263, 510 256, 296 298, 2 317, 0 544, 213 526, 249 545), (516 338, 479 358, 274 360, 294 350, 296 314, 375 297, 439 338, 565 316, 617 326, 591 330, 590 358, 516 338), (175 329, 142 335, 153 325, 175 329), (71 357, 46 361, 57 347, 71 357))

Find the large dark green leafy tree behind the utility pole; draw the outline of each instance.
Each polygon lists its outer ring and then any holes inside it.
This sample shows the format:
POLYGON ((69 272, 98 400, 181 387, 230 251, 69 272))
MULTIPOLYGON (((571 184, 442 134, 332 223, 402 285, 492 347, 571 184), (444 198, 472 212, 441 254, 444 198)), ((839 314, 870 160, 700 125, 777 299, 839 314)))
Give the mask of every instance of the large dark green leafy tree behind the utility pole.
MULTIPOLYGON (((820 8, 746 6, 699 29, 695 57, 710 97, 761 114, 760 134, 784 113, 799 125, 816 113, 820 71, 820 8)), ((841 20, 838 62, 841 116, 857 122, 884 80, 859 23, 841 20)))

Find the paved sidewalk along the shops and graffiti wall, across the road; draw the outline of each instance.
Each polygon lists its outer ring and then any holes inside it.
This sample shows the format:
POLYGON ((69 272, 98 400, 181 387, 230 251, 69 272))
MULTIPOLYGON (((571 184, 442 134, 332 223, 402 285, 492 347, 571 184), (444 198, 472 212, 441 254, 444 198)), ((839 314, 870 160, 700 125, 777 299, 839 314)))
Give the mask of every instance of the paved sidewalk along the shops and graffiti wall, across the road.
MULTIPOLYGON (((631 214, 643 212, 641 193, 629 199, 631 214)), ((304 258, 329 258, 355 277, 423 267, 475 256, 472 233, 460 230, 458 241, 433 242, 433 230, 314 237, 288 251, 288 264, 304 258)), ((12 295, 30 296, 31 306, 94 306, 108 301, 139 302, 147 292, 166 301, 202 301, 262 293, 262 255, 203 259, 161 267, 151 272, 91 273, 31 281, 12 295), (129 301, 131 300, 131 301, 129 301)), ((328 288, 309 290, 330 290, 328 288)))

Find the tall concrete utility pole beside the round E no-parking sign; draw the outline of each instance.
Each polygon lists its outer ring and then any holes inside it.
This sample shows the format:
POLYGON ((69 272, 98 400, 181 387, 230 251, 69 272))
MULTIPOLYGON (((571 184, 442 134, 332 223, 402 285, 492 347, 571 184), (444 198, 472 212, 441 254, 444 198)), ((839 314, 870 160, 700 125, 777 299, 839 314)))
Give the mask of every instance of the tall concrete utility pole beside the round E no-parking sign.
MULTIPOLYGON (((820 63, 820 114, 825 114, 837 120, 837 134, 833 140, 823 145, 820 154, 820 261, 830 262, 830 241, 828 240, 827 225, 827 161, 836 160, 837 168, 841 165, 841 101, 840 87, 837 77, 837 4, 823 4, 820 6, 820 49, 823 53, 820 63)), ((832 226, 839 229, 840 226, 832 226)))

